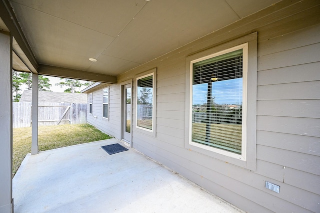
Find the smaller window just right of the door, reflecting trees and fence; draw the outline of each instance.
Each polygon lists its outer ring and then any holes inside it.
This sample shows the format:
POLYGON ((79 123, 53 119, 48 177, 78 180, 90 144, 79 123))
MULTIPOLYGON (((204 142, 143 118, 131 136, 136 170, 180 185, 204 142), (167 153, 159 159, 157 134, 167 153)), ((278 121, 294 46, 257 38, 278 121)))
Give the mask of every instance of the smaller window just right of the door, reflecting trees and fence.
POLYGON ((136 127, 153 131, 154 73, 136 79, 136 127))

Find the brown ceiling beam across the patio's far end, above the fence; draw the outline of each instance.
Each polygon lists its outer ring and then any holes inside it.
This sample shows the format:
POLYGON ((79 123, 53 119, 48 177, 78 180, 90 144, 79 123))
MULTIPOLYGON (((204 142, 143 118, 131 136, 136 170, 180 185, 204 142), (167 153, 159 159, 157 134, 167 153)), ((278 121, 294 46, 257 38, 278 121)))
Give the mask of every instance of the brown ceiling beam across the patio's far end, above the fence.
POLYGON ((60 78, 73 78, 73 79, 79 79, 79 80, 95 81, 95 82, 102 82, 102 83, 111 83, 111 84, 117 83, 116 76, 104 75, 104 74, 93 73, 93 72, 85 72, 81 70, 67 69, 67 68, 56 67, 56 66, 48 66, 43 64, 39 64, 38 74, 60 77, 60 78))

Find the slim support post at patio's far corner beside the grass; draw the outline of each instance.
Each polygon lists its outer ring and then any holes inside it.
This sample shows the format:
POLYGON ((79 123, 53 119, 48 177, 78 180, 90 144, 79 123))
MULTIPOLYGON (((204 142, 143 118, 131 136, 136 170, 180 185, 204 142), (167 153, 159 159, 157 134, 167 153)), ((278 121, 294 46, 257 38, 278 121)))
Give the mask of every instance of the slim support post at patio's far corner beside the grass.
POLYGON ((32 74, 32 141, 31 155, 38 154, 38 75, 32 74))

